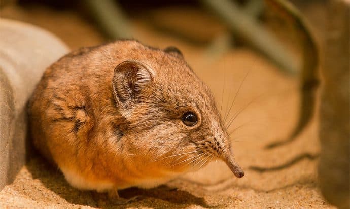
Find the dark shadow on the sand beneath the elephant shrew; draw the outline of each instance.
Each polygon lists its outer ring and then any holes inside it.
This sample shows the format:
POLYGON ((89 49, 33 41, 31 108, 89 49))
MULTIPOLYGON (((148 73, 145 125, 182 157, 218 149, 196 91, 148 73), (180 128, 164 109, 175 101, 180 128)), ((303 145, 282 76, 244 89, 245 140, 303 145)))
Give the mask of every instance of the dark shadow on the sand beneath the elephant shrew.
POLYGON ((208 205, 201 197, 196 197, 187 191, 172 189, 165 185, 147 190, 138 188, 120 190, 119 195, 122 198, 129 199, 138 196, 137 200, 120 205, 120 203, 116 204, 110 200, 107 193, 81 191, 71 187, 64 179, 62 172, 58 168, 53 168, 40 156, 31 157, 26 166, 31 172, 33 179, 39 179, 45 187, 72 204, 99 208, 187 208, 190 205, 198 205, 205 208, 213 207, 208 205))

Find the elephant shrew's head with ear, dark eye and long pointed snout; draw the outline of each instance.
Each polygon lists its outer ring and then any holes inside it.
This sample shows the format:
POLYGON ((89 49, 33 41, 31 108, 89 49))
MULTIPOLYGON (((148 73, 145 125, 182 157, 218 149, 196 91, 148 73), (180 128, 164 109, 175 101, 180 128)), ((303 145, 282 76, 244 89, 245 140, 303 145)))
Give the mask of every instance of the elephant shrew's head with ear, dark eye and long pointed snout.
POLYGON ((162 171, 199 169, 221 159, 243 177, 209 88, 176 48, 147 50, 156 53, 120 63, 112 81, 130 149, 162 171))

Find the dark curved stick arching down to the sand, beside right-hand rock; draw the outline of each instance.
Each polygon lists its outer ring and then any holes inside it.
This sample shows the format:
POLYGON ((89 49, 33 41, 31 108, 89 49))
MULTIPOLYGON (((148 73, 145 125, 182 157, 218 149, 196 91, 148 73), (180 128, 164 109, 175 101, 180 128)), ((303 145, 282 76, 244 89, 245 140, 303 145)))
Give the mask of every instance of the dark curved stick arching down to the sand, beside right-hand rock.
MULTIPOLYGON (((275 8, 281 14, 289 15, 288 20, 299 30, 298 40, 303 48, 303 65, 301 67, 301 85, 300 85, 300 113, 299 120, 291 134, 281 141, 274 142, 266 146, 267 149, 285 145, 294 140, 306 127, 313 116, 316 102, 316 88, 319 84, 317 77, 317 68, 319 64, 319 55, 316 43, 311 36, 309 27, 299 11, 285 0, 265 0, 270 7, 275 8)), ((281 15, 281 16, 284 16, 281 15)))

